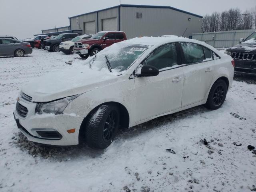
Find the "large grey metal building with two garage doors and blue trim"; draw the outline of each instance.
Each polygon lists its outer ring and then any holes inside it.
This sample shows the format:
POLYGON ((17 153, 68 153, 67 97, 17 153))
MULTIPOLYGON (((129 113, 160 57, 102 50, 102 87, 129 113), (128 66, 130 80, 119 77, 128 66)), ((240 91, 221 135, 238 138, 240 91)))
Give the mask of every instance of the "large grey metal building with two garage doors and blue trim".
POLYGON ((69 20, 70 29, 80 29, 83 34, 120 30, 127 38, 169 34, 191 37, 201 31, 202 25, 202 16, 170 6, 127 4, 72 16, 69 20))

